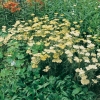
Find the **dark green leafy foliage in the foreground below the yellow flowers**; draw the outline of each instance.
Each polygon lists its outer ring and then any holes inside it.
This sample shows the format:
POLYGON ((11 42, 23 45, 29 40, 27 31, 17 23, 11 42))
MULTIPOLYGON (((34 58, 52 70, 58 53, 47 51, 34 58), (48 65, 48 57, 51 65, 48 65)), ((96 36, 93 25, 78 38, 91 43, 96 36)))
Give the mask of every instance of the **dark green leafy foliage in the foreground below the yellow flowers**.
POLYGON ((71 76, 40 76, 40 69, 4 68, 0 72, 1 100, 95 100, 95 94, 71 76))

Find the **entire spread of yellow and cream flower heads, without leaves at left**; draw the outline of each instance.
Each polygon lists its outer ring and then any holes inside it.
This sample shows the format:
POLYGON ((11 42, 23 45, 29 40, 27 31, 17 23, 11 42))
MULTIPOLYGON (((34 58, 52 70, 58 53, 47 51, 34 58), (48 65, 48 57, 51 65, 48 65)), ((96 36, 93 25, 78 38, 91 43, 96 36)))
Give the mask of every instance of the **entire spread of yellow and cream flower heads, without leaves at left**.
MULTIPOLYGON (((75 27, 71 27, 71 23, 63 18, 55 18, 50 20, 48 15, 42 18, 34 17, 28 21, 16 21, 13 28, 8 29, 8 35, 0 37, 0 42, 7 45, 9 41, 23 41, 27 46, 26 53, 31 56, 32 68, 37 68, 40 62, 60 64, 65 62, 76 64, 76 72, 81 77, 81 83, 87 85, 90 83, 89 76, 86 72, 97 70, 100 58, 100 49, 95 53, 95 44, 91 41, 91 35, 87 35, 86 39, 80 36, 78 30, 80 26, 78 22, 73 22, 75 27), (37 51, 34 50, 34 47, 37 51), (42 48, 42 49, 41 49, 42 48), (81 64, 84 63, 82 68, 81 64), (87 67, 86 67, 87 66, 87 67)), ((61 15, 62 17, 64 15, 61 15)), ((82 23, 82 21, 80 21, 82 23)), ((3 26, 3 32, 5 32, 3 26)), ((85 33, 84 33, 85 34, 85 33)), ((43 71, 48 72, 49 66, 43 71)), ((92 78, 92 82, 96 83, 96 79, 92 78)))

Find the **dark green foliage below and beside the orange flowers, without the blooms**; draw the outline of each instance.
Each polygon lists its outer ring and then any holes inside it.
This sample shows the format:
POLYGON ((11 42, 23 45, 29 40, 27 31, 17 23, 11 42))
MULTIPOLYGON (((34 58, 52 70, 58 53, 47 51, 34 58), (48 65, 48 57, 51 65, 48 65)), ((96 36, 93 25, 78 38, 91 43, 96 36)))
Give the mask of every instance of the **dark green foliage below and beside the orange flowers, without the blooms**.
POLYGON ((33 6, 30 6, 30 4, 25 2, 25 0, 21 0, 21 2, 19 2, 19 7, 21 9, 20 11, 11 12, 8 9, 5 9, 3 5, 0 4, 0 28, 2 28, 2 26, 4 25, 7 27, 11 27, 16 20, 30 19, 29 15, 35 13, 36 9, 39 9, 38 7, 35 8, 34 3, 33 6))

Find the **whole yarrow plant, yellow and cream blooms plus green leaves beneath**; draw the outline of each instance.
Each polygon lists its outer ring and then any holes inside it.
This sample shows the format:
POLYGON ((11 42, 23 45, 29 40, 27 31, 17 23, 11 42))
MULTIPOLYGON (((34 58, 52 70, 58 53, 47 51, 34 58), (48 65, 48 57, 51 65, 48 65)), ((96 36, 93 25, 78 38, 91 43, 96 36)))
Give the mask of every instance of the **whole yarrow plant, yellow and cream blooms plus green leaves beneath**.
MULTIPOLYGON (((81 36, 82 21, 72 24, 58 13, 51 20, 48 15, 31 16, 31 20, 16 21, 7 30, 8 35, 0 36, 0 47, 7 48, 3 53, 5 66, 30 65, 50 75, 76 71, 75 79, 83 85, 99 82, 100 49, 96 49, 91 35, 81 36)), ((4 34, 6 28, 2 30, 4 34)))

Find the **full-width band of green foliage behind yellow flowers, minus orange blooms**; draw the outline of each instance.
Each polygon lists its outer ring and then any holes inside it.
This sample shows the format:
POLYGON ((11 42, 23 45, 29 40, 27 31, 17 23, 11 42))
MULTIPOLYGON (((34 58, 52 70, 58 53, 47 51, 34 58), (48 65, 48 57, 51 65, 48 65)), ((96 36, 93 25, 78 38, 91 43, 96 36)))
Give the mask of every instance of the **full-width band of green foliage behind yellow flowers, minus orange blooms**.
POLYGON ((99 34, 100 25, 100 2, 98 0, 43 0, 45 6, 40 9, 36 3, 31 2, 32 6, 22 0, 20 2, 21 10, 11 13, 0 8, 0 27, 6 25, 11 27, 15 20, 30 19, 30 14, 35 13, 37 16, 49 15, 53 18, 55 12, 65 14, 66 18, 73 21, 82 20, 81 31, 87 34, 99 34))

